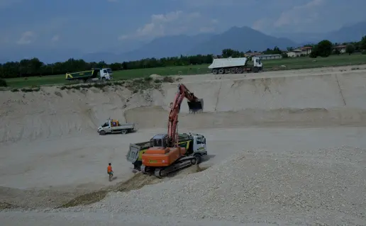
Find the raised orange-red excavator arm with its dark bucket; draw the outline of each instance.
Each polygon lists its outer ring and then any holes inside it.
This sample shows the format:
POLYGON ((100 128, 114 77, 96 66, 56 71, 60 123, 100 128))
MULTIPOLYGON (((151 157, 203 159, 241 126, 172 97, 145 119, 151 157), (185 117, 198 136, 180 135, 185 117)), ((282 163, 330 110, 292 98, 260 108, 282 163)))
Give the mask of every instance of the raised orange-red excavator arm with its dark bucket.
POLYGON ((178 91, 175 95, 174 102, 170 103, 170 114, 168 120, 168 144, 167 147, 178 146, 178 114, 180 111, 180 105, 184 98, 188 100, 189 112, 196 113, 196 111, 203 111, 204 103, 202 99, 197 98, 194 94, 187 89, 184 84, 178 84, 178 91))

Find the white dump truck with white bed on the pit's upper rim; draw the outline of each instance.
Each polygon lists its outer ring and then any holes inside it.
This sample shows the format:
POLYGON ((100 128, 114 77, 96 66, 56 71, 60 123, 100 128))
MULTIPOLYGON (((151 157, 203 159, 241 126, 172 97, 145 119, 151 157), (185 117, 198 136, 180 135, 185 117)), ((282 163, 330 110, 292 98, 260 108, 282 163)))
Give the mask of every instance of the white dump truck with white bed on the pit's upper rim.
POLYGON ((262 61, 259 57, 252 57, 252 62, 247 57, 218 58, 214 59, 209 69, 212 70, 212 74, 257 73, 263 69, 262 61))

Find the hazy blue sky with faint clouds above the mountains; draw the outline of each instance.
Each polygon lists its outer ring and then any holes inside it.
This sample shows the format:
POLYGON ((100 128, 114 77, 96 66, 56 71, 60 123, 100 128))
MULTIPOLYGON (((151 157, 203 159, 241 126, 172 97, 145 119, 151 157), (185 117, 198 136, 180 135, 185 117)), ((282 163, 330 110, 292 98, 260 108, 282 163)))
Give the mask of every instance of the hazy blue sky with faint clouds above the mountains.
POLYGON ((233 26, 270 35, 327 32, 365 21, 364 9, 365 0, 0 0, 0 60, 37 51, 127 52, 165 35, 233 26))

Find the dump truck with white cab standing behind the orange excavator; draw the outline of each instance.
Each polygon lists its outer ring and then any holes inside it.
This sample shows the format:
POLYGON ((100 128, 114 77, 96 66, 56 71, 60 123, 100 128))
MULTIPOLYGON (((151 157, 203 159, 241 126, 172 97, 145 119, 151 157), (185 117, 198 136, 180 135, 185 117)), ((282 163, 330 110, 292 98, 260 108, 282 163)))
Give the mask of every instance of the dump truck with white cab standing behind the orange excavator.
MULTIPOLYGON (((179 134, 178 140, 179 147, 187 149, 187 156, 196 157, 197 164, 201 163, 202 157, 207 155, 204 135, 182 133, 179 134)), ((135 170, 140 171, 145 151, 150 147, 162 147, 164 142, 167 142, 167 134, 157 134, 150 141, 130 144, 126 159, 133 164, 135 170)))

